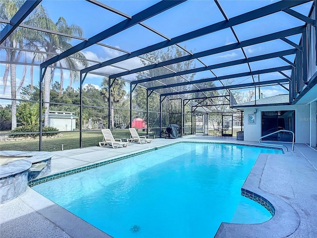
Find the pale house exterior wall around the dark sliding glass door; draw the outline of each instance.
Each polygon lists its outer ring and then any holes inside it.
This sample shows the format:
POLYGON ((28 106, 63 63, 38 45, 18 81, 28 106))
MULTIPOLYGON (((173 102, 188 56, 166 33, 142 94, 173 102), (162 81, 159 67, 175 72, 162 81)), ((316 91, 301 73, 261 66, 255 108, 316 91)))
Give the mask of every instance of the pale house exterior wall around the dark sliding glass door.
POLYGON ((310 106, 309 105, 291 105, 291 106, 268 106, 244 109, 244 140, 259 141, 262 131, 261 115, 263 111, 295 111, 295 142, 310 142, 310 106), (254 114, 257 109, 256 124, 248 123, 248 115, 254 114))

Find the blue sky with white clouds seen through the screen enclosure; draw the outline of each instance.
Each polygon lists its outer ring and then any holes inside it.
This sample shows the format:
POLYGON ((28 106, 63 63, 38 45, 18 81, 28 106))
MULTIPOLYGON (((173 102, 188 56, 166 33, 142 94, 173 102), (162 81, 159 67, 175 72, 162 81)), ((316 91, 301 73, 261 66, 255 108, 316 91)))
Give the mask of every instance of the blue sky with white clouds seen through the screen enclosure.
MULTIPOLYGON (((117 10, 128 14, 130 16, 136 14, 137 12, 155 4, 158 1, 149 0, 113 0, 100 2, 116 8, 117 10)), ((239 14, 254 10, 256 8, 265 6, 274 2, 273 0, 220 0, 220 5, 222 6, 226 16, 230 19, 239 14)), ((125 17, 117 15, 111 11, 98 7, 92 3, 85 0, 43 0, 42 5, 47 9, 50 17, 54 22, 58 20, 60 16, 66 19, 66 22, 70 24, 76 24, 83 29, 84 38, 90 38, 99 32, 111 27, 112 25, 121 22, 125 17)), ((292 9, 307 15, 311 9, 312 2, 302 4, 300 6, 294 7, 292 9)), ((168 38, 173 38, 178 35, 193 31, 195 29, 211 25, 213 23, 224 20, 222 14, 218 10, 216 4, 213 0, 191 0, 186 1, 173 7, 165 12, 162 12, 150 19, 145 20, 143 23, 156 29, 168 38)), ((265 16, 254 20, 252 22, 243 23, 234 26, 238 38, 240 41, 255 38, 264 34, 269 34, 284 29, 288 29, 295 26, 303 25, 304 22, 298 20, 285 12, 278 12, 269 16, 265 16), (276 24, 278 22, 278 24, 276 24)), ((295 43, 298 43, 299 36, 289 37, 295 43)), ((122 49, 127 52, 133 52, 137 49, 147 47, 164 41, 165 39, 157 34, 145 29, 140 25, 135 25, 121 33, 111 36, 101 43, 109 45, 111 47, 122 49)), ((80 40, 72 40, 71 44, 76 45, 80 43, 80 40)), ((192 53, 201 52, 208 49, 213 49, 216 47, 228 45, 237 42, 234 35, 230 29, 221 30, 214 32, 196 39, 192 39, 186 42, 181 42, 180 45, 185 47, 192 53)), ((247 57, 253 57, 258 55, 263 55, 275 51, 292 49, 287 43, 276 40, 273 42, 262 43, 254 45, 251 47, 245 47, 244 51, 247 57)), ((91 46, 82 51, 85 57, 89 60, 105 61, 113 59, 125 53, 120 51, 106 48, 99 45, 91 46)), ((288 60, 293 61, 294 56, 286 57, 288 60)), ((1 60, 5 60, 5 55, 1 51, 1 60)), ((228 51, 213 56, 208 56, 201 58, 206 65, 211 65, 215 63, 221 63, 231 60, 244 59, 243 53, 240 49, 228 51)), ((23 59, 24 60, 24 59, 23 59)), ((27 55, 26 60, 30 62, 31 56, 27 55)), ((93 65, 95 63, 90 63, 93 65)), ((127 69, 133 69, 143 66, 139 58, 133 58, 126 60, 121 63, 115 64, 116 66, 124 67, 127 69)), ((259 62, 250 63, 252 70, 259 70, 268 67, 277 67, 287 65, 284 60, 273 59, 273 60, 262 60, 259 62)), ((195 60, 195 67, 204 66, 198 60, 195 60)), ((107 66, 100 69, 102 72, 107 72, 110 74, 124 71, 115 67, 107 66)), ((237 66, 230 66, 226 68, 214 69, 213 73, 216 76, 241 73, 249 71, 247 64, 241 64, 237 66)), ((8 79, 7 87, 3 93, 3 72, 4 64, 0 64, 0 97, 10 97, 10 82, 8 79)), ((21 81, 23 73, 23 66, 17 66, 17 84, 21 81)), ((290 74, 290 70, 285 71, 286 74, 290 74)), ((59 70, 55 72, 55 79, 58 80, 60 75, 59 70)), ((136 74, 127 75, 124 78, 127 80, 134 80, 136 74)), ((197 73, 194 79, 201 79, 207 77, 214 77, 210 71, 204 71, 197 73)), ((280 77, 279 73, 271 73, 266 75, 261 75, 261 80, 277 79, 280 77)), ((30 83, 30 69, 27 69, 27 74, 24 82, 24 86, 30 83)), ((38 83, 39 80, 39 68, 34 68, 34 81, 38 83)), ((88 74, 85 83, 91 83, 100 87, 102 81, 102 76, 88 74)), ((252 82, 252 78, 238 78, 237 83, 240 82, 252 82)), ((35 84, 37 84, 35 83, 35 84)), ((64 88, 69 84, 69 76, 67 72, 64 72, 64 88)), ((78 83, 72 84, 74 88, 79 87, 78 83)), ((216 85, 220 86, 217 82, 216 85)), ((128 89, 128 87, 127 87, 128 89)), ((271 96, 280 93, 287 93, 286 90, 281 90, 281 87, 274 87, 272 90, 266 89, 265 95, 271 96)))

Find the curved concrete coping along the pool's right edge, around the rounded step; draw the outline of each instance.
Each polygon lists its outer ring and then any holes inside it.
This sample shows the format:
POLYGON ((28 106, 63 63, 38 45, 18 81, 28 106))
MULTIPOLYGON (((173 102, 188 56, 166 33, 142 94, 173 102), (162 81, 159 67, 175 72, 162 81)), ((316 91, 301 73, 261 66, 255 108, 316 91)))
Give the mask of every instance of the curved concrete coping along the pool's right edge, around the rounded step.
POLYGON ((242 188, 254 192, 269 201, 275 209, 274 216, 261 224, 221 223, 215 235, 216 238, 282 238, 290 236, 299 227, 300 217, 288 203, 259 188, 267 156, 267 154, 259 156, 242 188))

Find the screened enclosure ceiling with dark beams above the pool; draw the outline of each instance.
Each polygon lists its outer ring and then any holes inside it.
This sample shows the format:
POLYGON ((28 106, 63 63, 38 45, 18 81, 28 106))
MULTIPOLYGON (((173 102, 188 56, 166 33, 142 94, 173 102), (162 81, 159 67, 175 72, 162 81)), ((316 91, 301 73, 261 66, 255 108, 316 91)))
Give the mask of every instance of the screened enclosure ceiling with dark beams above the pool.
MULTIPOLYGON (((122 79, 131 82, 132 90, 139 85, 169 98, 227 95, 229 100, 230 90, 257 87, 266 96, 288 94, 302 34, 307 24, 315 25, 307 17, 313 4, 313 0, 27 0, 11 19, 1 15, 1 48, 24 51, 17 64, 77 70, 83 83, 93 84, 96 75, 122 79), (79 26, 82 35, 31 21, 40 6, 54 22, 62 16, 68 25, 79 26), (56 53, 6 44, 20 28, 30 35, 69 37, 69 45, 56 53), (68 59, 78 59, 77 52, 85 63, 67 64, 68 59), (34 58, 33 53, 49 57, 34 58)), ((10 63, 2 52, 0 60, 10 63)))

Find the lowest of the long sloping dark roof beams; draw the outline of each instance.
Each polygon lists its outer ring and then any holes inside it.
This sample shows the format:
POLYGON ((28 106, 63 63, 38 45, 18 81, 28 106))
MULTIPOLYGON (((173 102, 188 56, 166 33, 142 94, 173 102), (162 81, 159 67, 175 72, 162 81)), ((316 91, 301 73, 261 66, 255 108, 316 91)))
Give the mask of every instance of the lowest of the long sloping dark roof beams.
POLYGON ((277 83, 283 83, 283 82, 289 82, 289 80, 287 78, 283 78, 283 79, 269 80, 269 81, 264 81, 264 82, 234 84, 234 85, 227 85, 227 86, 221 86, 221 87, 188 90, 188 91, 182 91, 182 92, 177 92, 177 93, 175 93, 175 92, 174 93, 162 93, 161 96, 171 96, 171 95, 178 95, 178 94, 216 91, 216 90, 232 89, 232 88, 245 88, 245 87, 252 87, 252 86, 277 84, 277 83))

